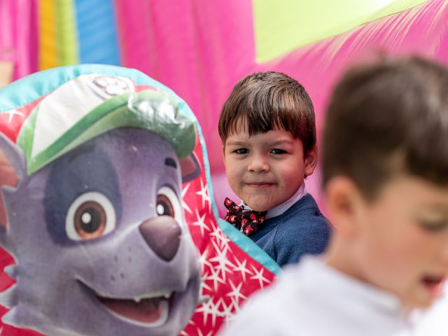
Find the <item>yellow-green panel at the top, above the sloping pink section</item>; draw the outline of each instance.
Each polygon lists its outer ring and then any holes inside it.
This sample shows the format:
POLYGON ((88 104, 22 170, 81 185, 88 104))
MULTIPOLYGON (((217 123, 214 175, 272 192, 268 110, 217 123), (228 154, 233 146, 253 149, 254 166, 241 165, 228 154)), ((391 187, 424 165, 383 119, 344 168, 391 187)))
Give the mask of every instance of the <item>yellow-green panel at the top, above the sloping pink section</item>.
POLYGON ((427 0, 253 0, 257 62, 342 34, 427 0))

